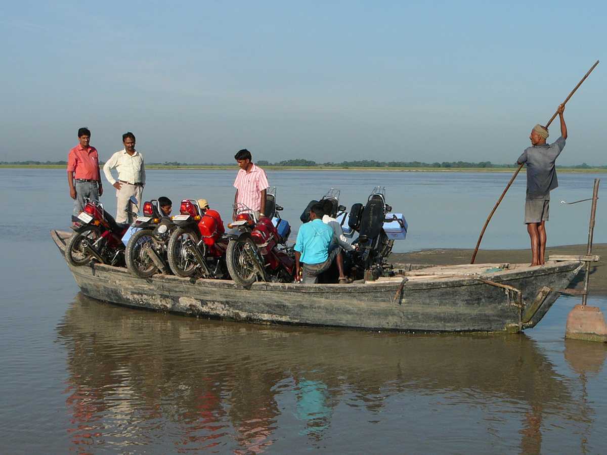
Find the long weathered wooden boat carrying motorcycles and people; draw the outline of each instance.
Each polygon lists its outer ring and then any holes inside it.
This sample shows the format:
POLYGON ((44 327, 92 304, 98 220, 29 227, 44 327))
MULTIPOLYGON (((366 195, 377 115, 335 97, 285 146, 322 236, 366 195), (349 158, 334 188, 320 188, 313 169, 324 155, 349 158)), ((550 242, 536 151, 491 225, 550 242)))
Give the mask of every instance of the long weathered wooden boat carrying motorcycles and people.
MULTIPOLYGON (((70 232, 51 231, 64 254, 70 232)), ((256 323, 390 331, 519 332, 534 327, 583 263, 395 265, 397 275, 348 285, 253 283, 154 275, 98 263, 73 267, 88 297, 135 308, 256 323)))

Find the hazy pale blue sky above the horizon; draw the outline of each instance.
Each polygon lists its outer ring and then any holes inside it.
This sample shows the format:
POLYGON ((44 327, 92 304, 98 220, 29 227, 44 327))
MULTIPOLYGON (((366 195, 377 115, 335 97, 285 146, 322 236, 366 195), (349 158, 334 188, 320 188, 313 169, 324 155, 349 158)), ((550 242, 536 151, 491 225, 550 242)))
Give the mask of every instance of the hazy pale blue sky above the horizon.
MULTIPOLYGON (((0 160, 89 126, 152 161, 514 161, 607 44, 607 3, 3 2, 0 160)), ((607 164, 607 60, 560 164, 607 164)), ((558 137, 558 122, 551 139, 558 137)))

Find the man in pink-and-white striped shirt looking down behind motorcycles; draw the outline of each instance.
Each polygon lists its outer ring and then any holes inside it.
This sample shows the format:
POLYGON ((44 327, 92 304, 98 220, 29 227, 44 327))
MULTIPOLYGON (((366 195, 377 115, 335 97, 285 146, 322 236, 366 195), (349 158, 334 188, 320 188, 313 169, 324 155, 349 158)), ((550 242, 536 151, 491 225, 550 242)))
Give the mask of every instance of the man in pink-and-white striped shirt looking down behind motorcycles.
POLYGON ((234 212, 232 219, 236 218, 239 204, 242 204, 256 212, 260 217, 265 216, 266 190, 268 189, 268 177, 265 170, 253 164, 251 152, 247 149, 239 150, 234 158, 238 162, 240 170, 234 181, 236 195, 234 195, 234 212))

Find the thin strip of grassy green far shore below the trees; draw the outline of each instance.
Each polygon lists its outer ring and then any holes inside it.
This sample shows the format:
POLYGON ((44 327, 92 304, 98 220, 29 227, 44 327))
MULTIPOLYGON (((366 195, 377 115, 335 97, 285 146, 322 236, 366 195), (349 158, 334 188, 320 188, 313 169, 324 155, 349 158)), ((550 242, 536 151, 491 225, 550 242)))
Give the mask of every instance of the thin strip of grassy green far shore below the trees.
MULTIPOLYGON (((0 164, 0 169, 66 169, 65 164, 0 164)), ((165 166, 164 164, 147 164, 146 169, 159 170, 235 170, 237 166, 165 166)), ((324 166, 263 166, 266 170, 374 170, 381 172, 507 172, 512 173, 516 167, 324 167, 324 166)), ((524 168, 521 169, 524 172, 524 168)), ((572 174, 605 174, 604 167, 576 169, 558 167, 558 172, 572 174)))

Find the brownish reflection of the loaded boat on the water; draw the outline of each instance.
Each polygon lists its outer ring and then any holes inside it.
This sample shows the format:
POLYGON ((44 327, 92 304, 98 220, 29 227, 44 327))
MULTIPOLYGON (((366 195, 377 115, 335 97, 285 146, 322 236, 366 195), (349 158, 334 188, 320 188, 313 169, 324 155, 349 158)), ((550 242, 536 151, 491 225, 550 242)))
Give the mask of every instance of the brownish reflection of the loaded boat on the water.
POLYGON ((57 331, 76 450, 534 453, 546 419, 580 413, 524 334, 245 325, 83 295, 57 331))

